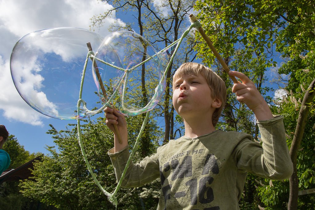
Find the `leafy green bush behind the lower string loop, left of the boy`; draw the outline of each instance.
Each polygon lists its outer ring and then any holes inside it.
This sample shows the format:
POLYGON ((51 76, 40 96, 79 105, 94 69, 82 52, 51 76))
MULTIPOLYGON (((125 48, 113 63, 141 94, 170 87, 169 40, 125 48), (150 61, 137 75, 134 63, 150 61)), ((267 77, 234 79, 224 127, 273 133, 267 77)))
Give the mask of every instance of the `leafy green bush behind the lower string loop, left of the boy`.
MULTIPOLYGON (((85 152, 95 176, 108 192, 113 192, 116 177, 109 156, 106 154, 113 147, 113 133, 107 128, 104 118, 96 122, 84 120, 82 125, 85 152)), ((132 146, 135 136, 139 133, 142 116, 127 118, 129 128, 129 144, 132 146)), ((57 131, 52 125, 49 134, 53 135, 58 148, 48 147, 50 154, 37 162, 34 167, 34 178, 21 183, 25 196, 40 200, 46 205, 58 209, 114 209, 106 196, 97 188, 89 174, 77 142, 75 124, 69 124, 71 129, 57 131), (58 150, 58 151, 57 151, 58 150)), ((147 135, 152 141, 150 145, 140 145, 134 162, 154 152, 160 130, 154 121, 148 123, 147 135), (146 149, 144 149, 146 148, 146 149), (146 154, 142 151, 146 150, 146 154)), ((148 142, 148 141, 146 141, 148 142)), ((157 184, 149 184, 145 189, 156 189, 146 196, 140 196, 142 188, 120 189, 117 194, 118 209, 142 209, 142 206, 157 205, 159 191, 157 184)), ((145 190, 147 191, 147 190, 145 190)))

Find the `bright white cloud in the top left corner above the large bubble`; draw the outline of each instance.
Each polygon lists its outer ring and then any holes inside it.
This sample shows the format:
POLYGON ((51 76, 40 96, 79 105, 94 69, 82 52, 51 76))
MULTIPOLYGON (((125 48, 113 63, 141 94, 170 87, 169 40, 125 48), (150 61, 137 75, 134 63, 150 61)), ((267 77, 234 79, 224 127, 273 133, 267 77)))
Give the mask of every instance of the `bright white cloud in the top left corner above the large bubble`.
MULTIPOLYGON (((97 0, 32 0, 31 2, 1 0, 0 8, 3 25, 10 32, 21 37, 31 31, 51 27, 71 26, 89 29, 90 18, 95 14, 103 14, 112 6, 97 0)), ((108 21, 108 25, 112 21, 108 21)))

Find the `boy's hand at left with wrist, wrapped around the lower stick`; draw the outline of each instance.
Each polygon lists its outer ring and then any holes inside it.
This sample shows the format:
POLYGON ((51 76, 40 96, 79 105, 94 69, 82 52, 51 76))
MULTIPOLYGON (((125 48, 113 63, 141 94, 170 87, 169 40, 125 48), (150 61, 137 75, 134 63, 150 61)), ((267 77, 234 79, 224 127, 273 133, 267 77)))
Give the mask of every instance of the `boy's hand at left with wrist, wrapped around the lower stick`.
POLYGON ((115 109, 105 107, 104 112, 106 117, 106 125, 109 129, 112 130, 112 132, 114 132, 115 152, 117 152, 128 145, 127 122, 125 116, 115 109), (119 130, 120 138, 122 141, 121 144, 118 142, 118 136, 115 133, 116 131, 114 125, 117 125, 117 128, 119 130))

